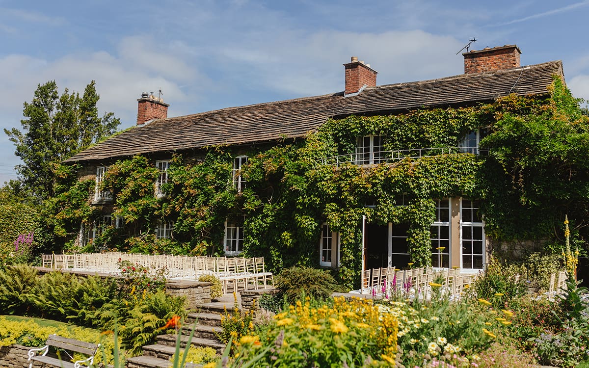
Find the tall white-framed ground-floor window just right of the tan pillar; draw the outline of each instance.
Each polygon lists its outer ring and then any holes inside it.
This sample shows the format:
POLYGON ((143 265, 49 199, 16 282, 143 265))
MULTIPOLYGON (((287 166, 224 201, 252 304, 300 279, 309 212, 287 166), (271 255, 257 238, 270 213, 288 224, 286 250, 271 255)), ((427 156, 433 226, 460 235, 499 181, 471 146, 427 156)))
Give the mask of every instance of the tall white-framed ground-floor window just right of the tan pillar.
POLYGON ((482 270, 485 264, 485 224, 478 201, 460 201, 461 267, 482 270))

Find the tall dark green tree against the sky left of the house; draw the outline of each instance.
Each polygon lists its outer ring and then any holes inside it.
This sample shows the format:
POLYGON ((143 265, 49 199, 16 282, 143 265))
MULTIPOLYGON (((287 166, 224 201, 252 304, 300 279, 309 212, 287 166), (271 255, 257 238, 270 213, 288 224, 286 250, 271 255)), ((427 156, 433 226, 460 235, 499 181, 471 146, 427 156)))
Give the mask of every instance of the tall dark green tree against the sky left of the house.
POLYGON ((4 130, 23 161, 16 166, 19 178, 38 200, 55 194, 55 165, 108 137, 120 124, 112 112, 98 116, 99 98, 94 81, 82 97, 67 88, 59 96, 55 81, 39 84, 31 103, 24 103, 22 131, 4 130))

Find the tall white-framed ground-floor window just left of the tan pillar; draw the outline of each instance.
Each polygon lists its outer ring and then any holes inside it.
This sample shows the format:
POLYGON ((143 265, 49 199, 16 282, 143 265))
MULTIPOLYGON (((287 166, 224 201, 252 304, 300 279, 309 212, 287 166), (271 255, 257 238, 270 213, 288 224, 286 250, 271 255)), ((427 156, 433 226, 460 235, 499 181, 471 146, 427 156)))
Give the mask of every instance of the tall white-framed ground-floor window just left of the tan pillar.
POLYGON ((432 267, 450 267, 450 199, 435 199, 436 218, 429 227, 432 243, 432 267))

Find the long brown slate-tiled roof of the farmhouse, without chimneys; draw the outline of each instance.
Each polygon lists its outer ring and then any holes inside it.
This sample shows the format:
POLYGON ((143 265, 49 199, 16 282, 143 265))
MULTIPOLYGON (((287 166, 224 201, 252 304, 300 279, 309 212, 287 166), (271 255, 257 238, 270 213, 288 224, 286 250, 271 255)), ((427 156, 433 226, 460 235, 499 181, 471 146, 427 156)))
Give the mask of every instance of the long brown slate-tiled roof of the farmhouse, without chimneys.
POLYGON ((211 145, 239 145, 303 137, 327 118, 395 113, 419 107, 447 107, 518 95, 547 94, 552 75, 563 75, 562 62, 505 71, 380 85, 356 95, 343 92, 295 100, 231 107, 137 125, 69 158, 96 161, 148 152, 173 152, 211 145))

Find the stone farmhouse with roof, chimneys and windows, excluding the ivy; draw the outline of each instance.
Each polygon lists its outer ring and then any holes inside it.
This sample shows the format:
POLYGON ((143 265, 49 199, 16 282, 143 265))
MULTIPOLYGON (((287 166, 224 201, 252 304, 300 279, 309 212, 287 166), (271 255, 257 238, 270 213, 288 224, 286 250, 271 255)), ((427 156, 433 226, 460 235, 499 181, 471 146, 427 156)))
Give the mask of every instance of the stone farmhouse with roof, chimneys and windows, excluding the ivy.
MULTIPOLYGON (((94 178, 95 190, 90 193, 89 202, 100 207, 101 213, 82 224, 77 241, 80 246, 85 246, 100 237, 103 228, 125 226, 120 218, 111 215, 116 209, 114 198, 100 185, 109 167, 117 160, 128 160, 136 155, 147 157, 160 173, 154 183, 155 196, 164 198, 166 190, 162 188, 170 180, 168 170, 174 154, 181 154, 187 164, 198 164, 207 151, 222 148, 232 155, 232 162, 227 163, 232 165, 233 173, 228 190, 239 196, 250 188, 249 178, 243 175, 247 173, 245 168, 252 160, 249 152, 264 152, 279 142, 304 142, 309 134, 320 130, 329 120, 350 116, 398 115, 418 109, 469 107, 492 102, 509 94, 542 98, 549 95, 547 88, 552 84, 554 76, 564 81, 561 61, 521 66, 520 54, 516 45, 469 51, 463 54, 464 74, 390 85, 378 85, 375 69, 352 57, 350 62, 344 64, 345 86, 342 92, 223 108, 180 117, 168 117, 168 104, 153 95, 143 94, 137 100, 137 125, 65 161, 65 164, 80 165, 80 178, 94 178)), ((436 150, 432 150, 432 147, 406 147, 405 150, 393 151, 387 149, 386 135, 374 131, 372 134, 349 137, 356 143, 352 151, 337 152, 340 155, 317 160, 317 165, 327 165, 332 172, 345 170, 349 165, 371 170, 382 165, 396 165, 399 160, 415 162, 434 155, 484 155, 485 151, 479 149, 479 142, 485 133, 486 127, 483 126, 466 131, 462 137, 457 137, 454 147, 436 147, 436 150)), ((411 198, 398 193, 395 193, 393 200, 400 206, 406 204, 405 201, 411 202, 411 198)), ((435 218, 429 227, 432 266, 457 266, 473 271, 484 268, 488 242, 492 240, 485 236, 485 221, 479 211, 479 200, 456 194, 433 197, 431 200, 435 205, 435 218)), ((365 201, 363 207, 369 211, 378 207, 378 204, 365 201)), ((293 208, 292 211, 296 210, 293 208)), ((350 240, 344 239, 342 229, 337 228, 329 216, 321 218, 325 211, 323 207, 317 208, 316 231, 307 239, 307 243, 312 243, 312 246, 306 246, 304 252, 296 253, 280 244, 264 248, 274 253, 289 251, 294 255, 289 261, 275 263, 276 267, 294 264, 296 257, 302 257, 306 263, 315 266, 350 267, 354 269, 353 274, 358 275, 360 269, 387 266, 402 268, 414 259, 411 244, 408 244, 411 224, 375 221, 370 216, 360 214, 354 232, 356 237, 352 240, 355 248, 351 253, 343 254, 341 244, 350 240), (353 266, 349 266, 350 263, 353 266)), ((257 226, 254 223, 248 225, 247 216, 247 211, 243 215, 240 213, 240 216, 227 216, 226 221, 216 228, 219 234, 217 240, 222 243, 218 249, 222 249, 224 254, 231 256, 242 251, 263 253, 257 251, 255 246, 264 243, 264 240, 254 241, 247 234, 249 229, 254 231, 257 226)), ((256 216, 262 218, 263 214, 258 213, 256 216)), ((334 216, 332 214, 331 218, 334 216)), ((174 238, 177 233, 175 226, 174 214, 171 214, 169 218, 161 218, 146 225, 142 231, 153 231, 156 239, 174 238)), ((289 226, 296 227, 292 224, 289 226)), ((256 234, 260 236, 260 232, 256 234)), ((297 240, 299 245, 293 247, 303 247, 304 242, 300 238, 297 240)), ((272 242, 276 242, 276 238, 266 241, 272 242)), ((272 263, 271 254, 262 255, 272 263)))

